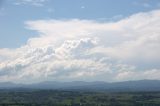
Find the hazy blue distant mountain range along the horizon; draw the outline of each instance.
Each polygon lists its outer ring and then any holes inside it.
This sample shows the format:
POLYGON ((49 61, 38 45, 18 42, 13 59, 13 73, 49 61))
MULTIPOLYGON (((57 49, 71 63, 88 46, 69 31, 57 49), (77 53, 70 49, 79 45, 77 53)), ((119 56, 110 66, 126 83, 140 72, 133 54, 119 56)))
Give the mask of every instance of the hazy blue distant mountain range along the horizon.
POLYGON ((36 84, 0 83, 0 89, 53 89, 86 91, 160 91, 160 80, 138 80, 124 82, 41 82, 36 84))

